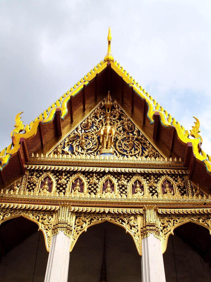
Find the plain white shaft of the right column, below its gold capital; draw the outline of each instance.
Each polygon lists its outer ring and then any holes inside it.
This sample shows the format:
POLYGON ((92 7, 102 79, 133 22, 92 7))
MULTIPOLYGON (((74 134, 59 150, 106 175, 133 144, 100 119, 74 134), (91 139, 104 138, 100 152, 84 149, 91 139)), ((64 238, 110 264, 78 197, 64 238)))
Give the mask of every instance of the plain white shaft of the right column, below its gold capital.
POLYGON ((142 282, 165 282, 161 241, 150 233, 142 239, 142 282))

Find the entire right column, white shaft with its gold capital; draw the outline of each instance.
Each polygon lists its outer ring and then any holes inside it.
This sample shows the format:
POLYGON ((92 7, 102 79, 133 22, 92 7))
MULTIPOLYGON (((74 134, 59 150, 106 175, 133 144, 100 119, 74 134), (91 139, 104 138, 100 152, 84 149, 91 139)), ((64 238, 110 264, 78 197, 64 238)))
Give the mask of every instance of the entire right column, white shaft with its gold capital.
POLYGON ((165 282, 157 211, 144 207, 142 237, 142 282, 165 282))

